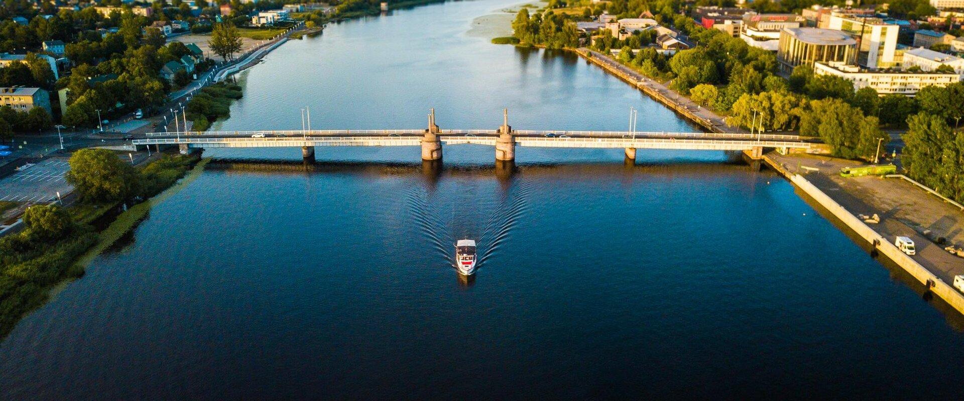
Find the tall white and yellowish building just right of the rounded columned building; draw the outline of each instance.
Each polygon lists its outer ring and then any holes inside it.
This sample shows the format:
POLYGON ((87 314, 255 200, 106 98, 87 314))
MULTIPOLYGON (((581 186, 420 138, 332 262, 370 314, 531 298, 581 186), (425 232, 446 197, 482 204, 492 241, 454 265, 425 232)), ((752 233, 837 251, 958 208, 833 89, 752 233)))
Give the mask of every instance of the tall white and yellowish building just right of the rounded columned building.
POLYGON ((868 68, 890 68, 900 64, 897 35, 900 27, 881 18, 854 13, 831 13, 829 29, 843 31, 857 40, 857 63, 868 68))

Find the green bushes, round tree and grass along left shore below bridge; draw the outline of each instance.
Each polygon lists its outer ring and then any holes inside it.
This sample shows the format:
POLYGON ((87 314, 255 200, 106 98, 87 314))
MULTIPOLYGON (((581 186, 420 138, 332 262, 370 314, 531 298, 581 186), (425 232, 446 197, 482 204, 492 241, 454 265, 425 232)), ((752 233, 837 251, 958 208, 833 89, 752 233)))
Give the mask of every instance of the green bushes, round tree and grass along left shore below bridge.
POLYGON ((24 230, 0 238, 0 338, 6 338, 24 315, 40 308, 50 297, 51 289, 83 276, 87 264, 134 227, 150 206, 166 199, 174 188, 182 187, 172 188, 185 173, 193 167, 195 171, 203 168, 200 161, 196 155, 161 154, 157 160, 135 168, 113 151, 84 149, 75 153, 70 158, 71 170, 106 166, 107 171, 118 173, 109 172, 113 176, 105 177, 70 174, 68 180, 78 189, 91 187, 88 193, 77 190, 80 199, 67 207, 30 207, 24 213, 24 230), (80 163, 92 165, 75 165, 80 163), (120 183, 119 178, 133 182, 120 183), (118 191, 120 188, 125 191, 118 191), (93 192, 114 193, 116 197, 92 196, 93 192), (127 209, 126 205, 133 206, 127 209))

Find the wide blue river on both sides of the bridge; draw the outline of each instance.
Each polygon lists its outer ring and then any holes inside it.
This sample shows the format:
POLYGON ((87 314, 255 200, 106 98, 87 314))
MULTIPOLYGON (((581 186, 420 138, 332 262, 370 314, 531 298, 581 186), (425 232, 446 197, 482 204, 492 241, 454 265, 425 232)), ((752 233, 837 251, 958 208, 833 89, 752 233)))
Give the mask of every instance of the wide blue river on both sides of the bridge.
MULTIPOLYGON (((571 54, 469 34, 505 0, 330 25, 225 130, 695 131, 571 54)), ((723 152, 208 149, 0 344, 0 398, 923 398, 964 335, 785 180, 723 152), (476 277, 451 266, 478 238, 476 277)))

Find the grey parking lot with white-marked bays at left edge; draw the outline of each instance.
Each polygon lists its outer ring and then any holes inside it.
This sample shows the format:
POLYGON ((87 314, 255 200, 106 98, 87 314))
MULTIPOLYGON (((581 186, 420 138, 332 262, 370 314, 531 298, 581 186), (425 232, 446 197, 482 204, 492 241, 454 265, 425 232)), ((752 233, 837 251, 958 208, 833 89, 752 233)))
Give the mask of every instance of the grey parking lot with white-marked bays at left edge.
POLYGON ((0 180, 0 201, 53 202, 73 189, 67 184, 67 158, 51 158, 0 180))

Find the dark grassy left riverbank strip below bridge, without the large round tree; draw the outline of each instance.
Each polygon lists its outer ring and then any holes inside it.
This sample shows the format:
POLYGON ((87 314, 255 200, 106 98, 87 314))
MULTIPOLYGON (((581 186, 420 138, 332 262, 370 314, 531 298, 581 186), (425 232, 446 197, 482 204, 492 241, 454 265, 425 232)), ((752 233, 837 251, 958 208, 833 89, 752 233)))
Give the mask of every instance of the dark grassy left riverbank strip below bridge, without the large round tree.
POLYGON ((0 239, 0 338, 6 337, 24 315, 42 306, 51 289, 83 276, 87 262, 96 253, 140 220, 130 219, 131 213, 149 208, 155 198, 163 199, 159 194, 199 161, 198 156, 163 155, 147 163, 140 173, 143 193, 149 198, 125 212, 119 213, 121 202, 65 207, 71 221, 66 238, 46 243, 27 230, 0 239), (118 229, 117 223, 125 228, 118 229), (82 257, 85 254, 89 257, 82 257))

